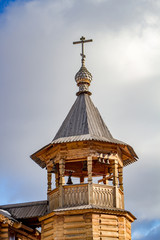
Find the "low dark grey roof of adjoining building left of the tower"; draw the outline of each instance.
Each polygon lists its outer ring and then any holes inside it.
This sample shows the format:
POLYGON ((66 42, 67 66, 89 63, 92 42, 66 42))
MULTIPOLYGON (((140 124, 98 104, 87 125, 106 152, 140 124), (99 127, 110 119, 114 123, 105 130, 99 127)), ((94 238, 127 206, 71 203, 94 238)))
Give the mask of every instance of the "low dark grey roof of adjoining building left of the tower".
POLYGON ((44 216, 47 213, 47 201, 17 203, 0 206, 16 219, 26 219, 44 216))

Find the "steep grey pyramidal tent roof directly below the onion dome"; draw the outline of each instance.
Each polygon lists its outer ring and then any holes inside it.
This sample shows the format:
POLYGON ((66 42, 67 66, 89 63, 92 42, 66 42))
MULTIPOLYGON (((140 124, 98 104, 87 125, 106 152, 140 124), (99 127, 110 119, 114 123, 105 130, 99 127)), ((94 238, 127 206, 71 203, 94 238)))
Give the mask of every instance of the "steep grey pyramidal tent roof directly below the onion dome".
POLYGON ((112 137, 90 96, 82 93, 77 97, 52 143, 84 140, 127 145, 112 137))

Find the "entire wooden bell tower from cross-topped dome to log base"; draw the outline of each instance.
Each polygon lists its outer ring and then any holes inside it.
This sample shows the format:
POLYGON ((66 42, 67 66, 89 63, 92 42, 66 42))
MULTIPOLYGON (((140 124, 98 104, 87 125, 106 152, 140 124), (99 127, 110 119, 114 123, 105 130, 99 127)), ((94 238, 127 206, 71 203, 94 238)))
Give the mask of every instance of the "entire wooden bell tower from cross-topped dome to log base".
POLYGON ((131 239, 135 217, 124 209, 123 167, 137 155, 112 137, 90 98, 92 75, 85 67, 84 43, 91 41, 82 37, 74 42, 82 44, 77 99, 53 141, 31 156, 48 176, 42 240, 131 239))

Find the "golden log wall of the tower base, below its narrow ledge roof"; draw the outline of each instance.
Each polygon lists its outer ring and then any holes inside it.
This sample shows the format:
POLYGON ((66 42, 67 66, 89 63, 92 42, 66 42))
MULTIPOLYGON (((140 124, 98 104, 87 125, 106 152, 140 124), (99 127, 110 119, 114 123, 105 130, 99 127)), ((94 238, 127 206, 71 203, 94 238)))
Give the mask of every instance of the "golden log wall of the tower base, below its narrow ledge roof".
POLYGON ((131 222, 116 214, 52 216, 42 222, 42 240, 131 240, 131 222))

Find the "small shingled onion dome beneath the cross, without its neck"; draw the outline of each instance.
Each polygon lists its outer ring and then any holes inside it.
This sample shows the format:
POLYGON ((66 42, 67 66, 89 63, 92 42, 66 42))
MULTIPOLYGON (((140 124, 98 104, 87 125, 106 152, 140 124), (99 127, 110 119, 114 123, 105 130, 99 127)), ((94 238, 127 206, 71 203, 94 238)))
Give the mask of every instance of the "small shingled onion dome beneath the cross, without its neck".
POLYGON ((84 82, 90 85, 90 82, 92 81, 92 74, 87 70, 84 65, 82 65, 80 70, 75 75, 75 80, 77 82, 77 85, 84 82))

